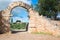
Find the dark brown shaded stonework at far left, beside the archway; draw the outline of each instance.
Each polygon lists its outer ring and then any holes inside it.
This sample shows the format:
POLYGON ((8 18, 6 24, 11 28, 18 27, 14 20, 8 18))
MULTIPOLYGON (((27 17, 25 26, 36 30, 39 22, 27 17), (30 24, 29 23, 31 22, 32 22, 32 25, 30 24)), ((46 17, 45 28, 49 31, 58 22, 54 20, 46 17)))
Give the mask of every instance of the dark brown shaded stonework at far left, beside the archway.
POLYGON ((7 16, 4 15, 4 11, 0 11, 0 33, 6 33, 10 31, 10 24, 7 21, 7 16))

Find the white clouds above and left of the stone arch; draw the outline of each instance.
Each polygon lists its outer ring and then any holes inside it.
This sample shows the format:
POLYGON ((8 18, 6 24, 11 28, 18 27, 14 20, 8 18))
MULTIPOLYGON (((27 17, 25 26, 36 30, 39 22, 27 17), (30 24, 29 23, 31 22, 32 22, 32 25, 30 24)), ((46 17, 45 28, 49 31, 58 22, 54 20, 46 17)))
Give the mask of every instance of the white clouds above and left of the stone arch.
POLYGON ((0 0, 0 10, 5 9, 11 2, 22 1, 28 5, 31 5, 31 0, 0 0))

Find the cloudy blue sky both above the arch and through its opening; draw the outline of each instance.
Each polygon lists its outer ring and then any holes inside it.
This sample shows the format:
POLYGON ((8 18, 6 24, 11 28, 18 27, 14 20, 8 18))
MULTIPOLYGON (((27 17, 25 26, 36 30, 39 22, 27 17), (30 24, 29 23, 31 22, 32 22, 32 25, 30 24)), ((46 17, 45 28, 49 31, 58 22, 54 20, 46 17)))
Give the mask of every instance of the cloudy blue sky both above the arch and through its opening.
MULTIPOLYGON (((8 5, 11 2, 14 1, 22 1, 28 5, 34 5, 38 2, 37 0, 0 0, 0 11, 4 10, 8 7, 8 5)), ((29 18, 28 16, 28 12, 26 9, 22 8, 22 7, 16 7, 13 9, 13 11, 11 12, 13 14, 13 21, 15 22, 16 20, 21 20, 22 22, 29 22, 29 18)))

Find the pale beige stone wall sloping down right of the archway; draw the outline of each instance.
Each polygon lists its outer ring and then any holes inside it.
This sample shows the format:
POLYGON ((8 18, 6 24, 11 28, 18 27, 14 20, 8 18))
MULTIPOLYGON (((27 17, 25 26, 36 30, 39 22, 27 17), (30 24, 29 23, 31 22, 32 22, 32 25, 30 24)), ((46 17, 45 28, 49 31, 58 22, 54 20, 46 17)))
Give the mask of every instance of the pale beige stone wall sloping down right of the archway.
POLYGON ((31 18, 29 22, 30 25, 28 32, 30 33, 45 32, 50 33, 52 35, 60 35, 60 28, 57 25, 52 24, 50 19, 42 15, 39 16, 38 12, 34 10, 30 11, 30 17, 31 18))

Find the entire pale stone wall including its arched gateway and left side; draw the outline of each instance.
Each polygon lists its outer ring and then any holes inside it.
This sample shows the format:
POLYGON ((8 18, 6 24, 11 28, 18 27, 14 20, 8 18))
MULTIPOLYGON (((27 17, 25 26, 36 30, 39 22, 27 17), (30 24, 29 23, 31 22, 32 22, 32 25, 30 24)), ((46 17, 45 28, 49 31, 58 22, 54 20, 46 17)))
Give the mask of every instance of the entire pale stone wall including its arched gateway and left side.
POLYGON ((11 3, 5 10, 0 12, 0 32, 9 32, 10 31, 10 16, 11 11, 13 8, 20 6, 29 12, 29 26, 28 26, 28 32, 49 32, 53 35, 60 35, 60 30, 58 26, 52 24, 50 20, 43 16, 39 16, 39 13, 34 11, 29 5, 23 3, 23 2, 13 2, 11 3))

